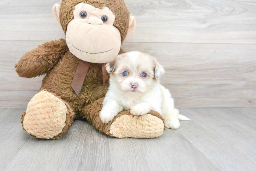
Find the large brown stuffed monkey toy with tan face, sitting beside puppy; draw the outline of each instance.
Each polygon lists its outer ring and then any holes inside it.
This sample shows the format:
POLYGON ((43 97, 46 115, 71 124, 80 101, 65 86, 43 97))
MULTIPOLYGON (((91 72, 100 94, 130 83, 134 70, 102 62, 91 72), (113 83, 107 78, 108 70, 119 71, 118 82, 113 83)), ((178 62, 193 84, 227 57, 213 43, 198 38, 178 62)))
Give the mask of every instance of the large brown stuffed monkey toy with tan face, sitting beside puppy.
POLYGON ((136 25, 124 0, 62 0, 53 6, 53 14, 66 40, 43 43, 15 65, 20 77, 45 74, 22 114, 23 129, 32 137, 54 140, 74 119, 87 119, 112 137, 161 135, 163 118, 153 110, 143 116, 121 111, 108 123, 99 117, 108 87, 105 64, 124 53, 121 44, 136 25))

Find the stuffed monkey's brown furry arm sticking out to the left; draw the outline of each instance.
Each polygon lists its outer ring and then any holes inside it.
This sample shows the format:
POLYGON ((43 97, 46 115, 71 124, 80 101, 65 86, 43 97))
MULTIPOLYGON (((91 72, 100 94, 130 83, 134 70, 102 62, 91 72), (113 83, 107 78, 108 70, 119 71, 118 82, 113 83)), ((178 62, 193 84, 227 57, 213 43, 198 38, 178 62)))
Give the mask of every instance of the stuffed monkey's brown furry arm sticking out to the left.
POLYGON ((49 72, 68 51, 66 40, 43 43, 24 54, 15 65, 20 77, 32 78, 49 72))

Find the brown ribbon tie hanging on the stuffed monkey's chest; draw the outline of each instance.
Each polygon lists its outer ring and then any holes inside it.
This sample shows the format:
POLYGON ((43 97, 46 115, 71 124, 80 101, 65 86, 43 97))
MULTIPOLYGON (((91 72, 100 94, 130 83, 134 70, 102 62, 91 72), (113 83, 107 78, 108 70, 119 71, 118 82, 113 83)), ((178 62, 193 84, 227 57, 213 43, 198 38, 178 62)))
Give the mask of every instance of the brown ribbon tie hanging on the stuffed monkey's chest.
MULTIPOLYGON (((90 62, 86 62, 86 61, 82 61, 82 60, 80 60, 78 66, 77 66, 77 69, 76 69, 76 72, 75 72, 75 75, 74 75, 74 78, 73 78, 73 81, 71 84, 71 87, 74 89, 77 96, 79 96, 79 94, 82 90, 82 87, 83 87, 83 84, 85 81, 85 77, 86 77, 86 74, 87 74, 90 66, 91 66, 90 62)), ((102 87, 104 90, 105 85, 106 85, 106 75, 107 75, 106 63, 101 64, 101 67, 102 67, 102 76, 103 76, 103 86, 102 87)))

